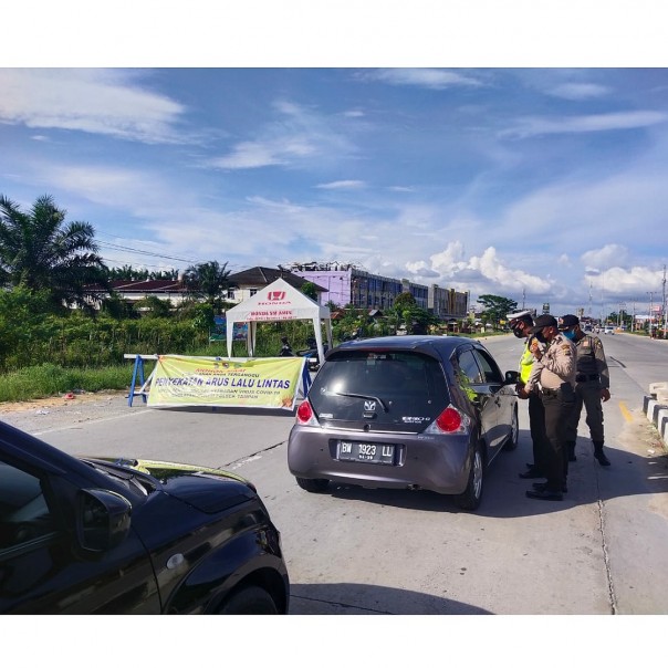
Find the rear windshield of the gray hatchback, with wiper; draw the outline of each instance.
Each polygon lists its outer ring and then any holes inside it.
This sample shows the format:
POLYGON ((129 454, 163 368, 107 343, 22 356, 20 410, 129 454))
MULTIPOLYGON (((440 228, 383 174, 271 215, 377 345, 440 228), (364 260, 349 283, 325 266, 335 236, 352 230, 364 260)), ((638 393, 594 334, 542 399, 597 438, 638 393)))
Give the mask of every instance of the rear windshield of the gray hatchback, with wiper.
POLYGON ((375 424, 414 425, 415 430, 443 410, 449 394, 434 357, 411 351, 342 351, 317 374, 309 399, 321 419, 353 427, 373 410, 375 424))

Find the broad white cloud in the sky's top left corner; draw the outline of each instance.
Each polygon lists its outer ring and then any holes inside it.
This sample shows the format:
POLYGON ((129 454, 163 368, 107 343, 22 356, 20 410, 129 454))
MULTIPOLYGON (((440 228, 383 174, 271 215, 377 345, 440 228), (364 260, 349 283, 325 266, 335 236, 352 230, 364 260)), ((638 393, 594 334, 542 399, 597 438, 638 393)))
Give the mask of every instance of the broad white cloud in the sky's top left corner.
POLYGON ((178 143, 185 107, 114 70, 0 69, 0 121, 145 143, 178 143))

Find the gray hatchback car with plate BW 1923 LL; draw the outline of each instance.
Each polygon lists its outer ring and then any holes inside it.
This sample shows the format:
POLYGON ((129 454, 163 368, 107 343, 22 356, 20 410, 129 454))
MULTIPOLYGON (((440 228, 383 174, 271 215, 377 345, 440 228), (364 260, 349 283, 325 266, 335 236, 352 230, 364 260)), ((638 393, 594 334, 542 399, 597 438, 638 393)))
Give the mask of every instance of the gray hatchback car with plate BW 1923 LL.
POLYGON ((516 372, 479 342, 384 336, 330 351, 288 443, 298 484, 431 490, 480 505, 486 470, 518 445, 516 372))

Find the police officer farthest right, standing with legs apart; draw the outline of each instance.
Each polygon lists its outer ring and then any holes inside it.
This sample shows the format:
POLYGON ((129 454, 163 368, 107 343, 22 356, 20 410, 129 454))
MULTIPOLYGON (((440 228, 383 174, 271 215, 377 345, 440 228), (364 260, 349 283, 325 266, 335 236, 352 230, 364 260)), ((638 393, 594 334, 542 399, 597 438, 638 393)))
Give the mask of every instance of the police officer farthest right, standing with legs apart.
POLYGON ((607 368, 603 343, 598 336, 585 334, 576 315, 564 315, 559 322, 560 332, 573 341, 577 348, 575 375, 575 404, 566 426, 566 448, 568 461, 576 461, 575 442, 577 424, 585 407, 587 427, 594 443, 594 457, 602 467, 609 467, 609 459, 603 451, 603 407, 602 401, 610 398, 610 374, 607 368))

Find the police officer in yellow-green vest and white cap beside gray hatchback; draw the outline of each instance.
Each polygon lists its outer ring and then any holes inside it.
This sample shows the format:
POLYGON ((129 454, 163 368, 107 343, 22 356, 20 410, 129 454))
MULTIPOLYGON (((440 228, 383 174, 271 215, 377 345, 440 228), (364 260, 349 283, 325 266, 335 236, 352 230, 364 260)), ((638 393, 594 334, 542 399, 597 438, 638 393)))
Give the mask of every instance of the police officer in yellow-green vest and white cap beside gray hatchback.
MULTIPOLYGON (((529 330, 533 327, 533 317, 530 311, 519 311, 516 313, 509 313, 505 316, 509 321, 509 326, 512 333, 518 338, 524 338, 524 351, 520 357, 520 379, 515 385, 515 392, 520 399, 529 399, 529 431, 531 434, 531 441, 533 445, 533 462, 529 466, 528 471, 520 473, 520 478, 544 478, 545 473, 545 414, 543 410, 543 403, 537 393, 537 387, 528 393, 525 389, 526 380, 531 374, 533 362, 535 357, 531 352, 531 345, 535 341, 536 335, 529 334, 529 330)), ((539 334, 540 336, 540 334, 539 334)), ((540 344, 541 348, 544 349, 545 345, 540 344)))

